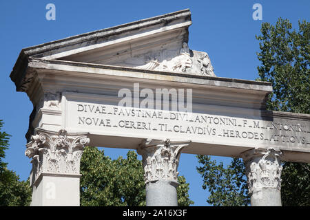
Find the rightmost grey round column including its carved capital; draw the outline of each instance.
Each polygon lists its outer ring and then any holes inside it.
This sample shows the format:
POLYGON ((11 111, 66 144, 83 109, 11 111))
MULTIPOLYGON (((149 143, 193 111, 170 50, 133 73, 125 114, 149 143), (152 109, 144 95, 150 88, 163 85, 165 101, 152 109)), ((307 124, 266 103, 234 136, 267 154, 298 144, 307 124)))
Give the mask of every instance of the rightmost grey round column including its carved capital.
POLYGON ((253 149, 242 153, 251 206, 281 206, 281 173, 278 149, 253 149))

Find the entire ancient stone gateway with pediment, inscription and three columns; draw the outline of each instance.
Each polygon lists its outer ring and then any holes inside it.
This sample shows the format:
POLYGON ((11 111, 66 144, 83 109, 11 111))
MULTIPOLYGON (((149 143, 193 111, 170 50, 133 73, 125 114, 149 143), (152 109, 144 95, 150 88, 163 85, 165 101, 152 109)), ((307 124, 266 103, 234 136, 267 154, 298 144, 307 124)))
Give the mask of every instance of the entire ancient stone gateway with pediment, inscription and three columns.
POLYGON ((86 145, 136 149, 147 206, 177 205, 181 152, 242 157, 251 205, 281 205, 281 160, 310 162, 310 116, 267 111, 270 83, 216 77, 191 24, 181 10, 21 50, 32 206, 79 206, 86 145))

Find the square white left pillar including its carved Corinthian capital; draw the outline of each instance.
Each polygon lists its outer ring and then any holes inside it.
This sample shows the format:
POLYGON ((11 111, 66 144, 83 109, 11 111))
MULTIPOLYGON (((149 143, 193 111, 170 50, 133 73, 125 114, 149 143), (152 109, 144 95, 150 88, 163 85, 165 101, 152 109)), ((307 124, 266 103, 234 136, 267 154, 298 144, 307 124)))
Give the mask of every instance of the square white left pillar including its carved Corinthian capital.
POLYGON ((80 160, 89 142, 85 134, 37 129, 25 150, 32 158, 31 206, 79 206, 80 160))

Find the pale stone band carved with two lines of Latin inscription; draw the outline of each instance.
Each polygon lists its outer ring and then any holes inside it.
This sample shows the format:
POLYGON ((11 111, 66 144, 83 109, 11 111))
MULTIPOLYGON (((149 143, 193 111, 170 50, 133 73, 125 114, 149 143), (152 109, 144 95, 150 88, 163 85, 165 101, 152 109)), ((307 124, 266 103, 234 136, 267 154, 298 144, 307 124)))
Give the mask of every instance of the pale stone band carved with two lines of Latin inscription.
POLYGON ((171 133, 230 140, 259 140, 309 147, 309 123, 296 120, 250 120, 203 113, 136 109, 108 104, 76 104, 76 125, 136 132, 171 133))

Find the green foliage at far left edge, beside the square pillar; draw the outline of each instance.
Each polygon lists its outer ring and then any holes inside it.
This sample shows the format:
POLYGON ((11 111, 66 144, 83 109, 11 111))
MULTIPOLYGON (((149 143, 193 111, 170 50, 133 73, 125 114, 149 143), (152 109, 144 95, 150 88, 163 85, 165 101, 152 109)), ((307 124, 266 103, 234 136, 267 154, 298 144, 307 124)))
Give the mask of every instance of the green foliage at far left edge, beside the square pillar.
POLYGON ((3 162, 10 135, 5 131, 1 132, 2 126, 3 122, 0 120, 0 206, 28 206, 31 201, 29 181, 19 181, 19 176, 8 170, 8 164, 3 162))

